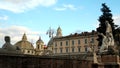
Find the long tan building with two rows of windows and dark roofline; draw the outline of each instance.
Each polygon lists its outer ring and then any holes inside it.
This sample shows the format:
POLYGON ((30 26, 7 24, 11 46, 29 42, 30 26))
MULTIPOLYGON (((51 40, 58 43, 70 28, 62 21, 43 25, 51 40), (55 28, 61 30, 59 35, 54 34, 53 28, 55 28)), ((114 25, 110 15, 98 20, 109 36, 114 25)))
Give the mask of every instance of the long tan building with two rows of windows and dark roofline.
MULTIPOLYGON (((57 30, 57 35, 59 35, 58 33, 60 32, 57 30)), ((80 54, 92 52, 93 49, 98 50, 98 34, 96 31, 75 33, 68 36, 57 35, 53 38, 51 44, 54 55, 80 54)))

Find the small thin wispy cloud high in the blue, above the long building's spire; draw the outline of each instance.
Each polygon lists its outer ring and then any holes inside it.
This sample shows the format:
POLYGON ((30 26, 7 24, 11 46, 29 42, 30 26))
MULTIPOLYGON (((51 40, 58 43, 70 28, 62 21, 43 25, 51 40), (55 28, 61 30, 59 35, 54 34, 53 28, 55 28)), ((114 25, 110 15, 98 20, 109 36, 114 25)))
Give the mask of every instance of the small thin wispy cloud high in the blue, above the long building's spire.
POLYGON ((72 4, 63 4, 62 7, 55 7, 56 11, 64 11, 64 10, 76 10, 77 8, 72 4))

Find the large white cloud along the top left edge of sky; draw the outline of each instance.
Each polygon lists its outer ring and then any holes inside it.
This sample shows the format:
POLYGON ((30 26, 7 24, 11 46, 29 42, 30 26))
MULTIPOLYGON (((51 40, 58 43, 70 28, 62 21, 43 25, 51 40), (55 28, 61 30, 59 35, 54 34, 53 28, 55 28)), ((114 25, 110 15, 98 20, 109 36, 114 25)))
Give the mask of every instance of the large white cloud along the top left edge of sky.
POLYGON ((57 0, 3 0, 0 1, 0 9, 21 13, 37 6, 48 7, 56 2, 57 0))

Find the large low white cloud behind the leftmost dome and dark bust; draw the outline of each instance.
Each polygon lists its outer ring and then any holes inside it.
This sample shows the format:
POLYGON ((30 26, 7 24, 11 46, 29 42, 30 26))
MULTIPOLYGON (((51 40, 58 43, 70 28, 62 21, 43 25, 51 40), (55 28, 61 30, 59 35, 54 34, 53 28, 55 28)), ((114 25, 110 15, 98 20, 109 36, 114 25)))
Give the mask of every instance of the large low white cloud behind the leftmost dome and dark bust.
POLYGON ((26 33, 28 41, 33 43, 38 40, 40 35, 45 34, 45 32, 32 31, 24 26, 11 26, 4 29, 0 28, 0 46, 4 44, 5 36, 10 36, 11 43, 15 44, 22 39, 24 33, 26 33))

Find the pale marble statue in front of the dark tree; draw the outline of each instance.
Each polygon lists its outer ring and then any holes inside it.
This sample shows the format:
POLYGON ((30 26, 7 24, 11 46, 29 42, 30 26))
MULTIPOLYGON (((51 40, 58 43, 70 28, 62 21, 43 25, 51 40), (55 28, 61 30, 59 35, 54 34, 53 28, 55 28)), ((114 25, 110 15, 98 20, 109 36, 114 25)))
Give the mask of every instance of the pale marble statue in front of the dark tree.
POLYGON ((100 33, 100 35, 103 37, 102 39, 102 45, 100 48, 100 53, 107 52, 109 46, 114 46, 114 38, 112 34, 112 27, 109 24, 108 21, 105 21, 106 25, 106 32, 105 35, 103 33, 100 33))

